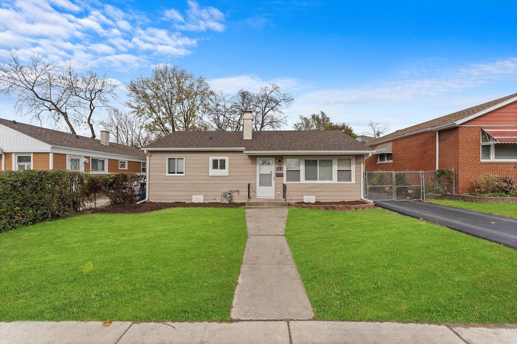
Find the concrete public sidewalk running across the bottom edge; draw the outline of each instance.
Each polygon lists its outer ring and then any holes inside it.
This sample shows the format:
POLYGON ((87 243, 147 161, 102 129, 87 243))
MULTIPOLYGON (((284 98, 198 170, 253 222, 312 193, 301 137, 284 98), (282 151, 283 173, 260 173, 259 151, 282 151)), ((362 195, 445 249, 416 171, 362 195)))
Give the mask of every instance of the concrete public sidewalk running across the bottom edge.
POLYGON ((233 323, 2 322, 0 343, 356 343, 515 344, 517 326, 462 327, 393 322, 240 321, 233 323))

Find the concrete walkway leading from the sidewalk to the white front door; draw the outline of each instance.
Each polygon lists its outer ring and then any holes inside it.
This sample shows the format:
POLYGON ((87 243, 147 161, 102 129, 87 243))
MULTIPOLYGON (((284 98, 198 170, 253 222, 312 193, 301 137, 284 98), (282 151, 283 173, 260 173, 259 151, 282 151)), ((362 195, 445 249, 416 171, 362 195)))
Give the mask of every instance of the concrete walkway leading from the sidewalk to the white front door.
POLYGON ((233 320, 314 316, 285 240, 288 208, 246 209, 248 241, 233 299, 233 320))

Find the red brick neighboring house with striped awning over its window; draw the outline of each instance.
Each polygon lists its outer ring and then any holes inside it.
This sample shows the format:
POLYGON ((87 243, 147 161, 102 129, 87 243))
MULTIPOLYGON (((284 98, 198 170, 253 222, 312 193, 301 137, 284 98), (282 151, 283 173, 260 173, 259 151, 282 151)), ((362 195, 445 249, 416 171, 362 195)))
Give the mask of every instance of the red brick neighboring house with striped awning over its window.
POLYGON ((366 170, 454 168, 457 193, 483 174, 517 179, 517 93, 469 107, 368 143, 366 170))

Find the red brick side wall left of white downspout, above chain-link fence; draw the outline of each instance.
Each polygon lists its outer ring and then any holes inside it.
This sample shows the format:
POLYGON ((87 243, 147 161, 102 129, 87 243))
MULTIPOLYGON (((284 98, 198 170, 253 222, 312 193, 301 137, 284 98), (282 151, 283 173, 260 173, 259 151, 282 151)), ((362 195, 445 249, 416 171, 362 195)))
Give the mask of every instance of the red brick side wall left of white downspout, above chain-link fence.
MULTIPOLYGON (((375 146, 370 146, 375 148, 375 146)), ((392 141, 393 162, 377 164, 372 155, 364 164, 367 171, 432 171, 436 169, 436 132, 424 132, 392 141)))

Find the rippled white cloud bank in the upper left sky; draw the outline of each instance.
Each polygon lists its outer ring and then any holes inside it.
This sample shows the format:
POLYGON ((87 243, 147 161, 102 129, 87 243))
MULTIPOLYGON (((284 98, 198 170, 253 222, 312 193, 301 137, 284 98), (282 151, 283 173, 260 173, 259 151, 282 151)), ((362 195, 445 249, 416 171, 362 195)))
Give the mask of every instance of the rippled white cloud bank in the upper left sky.
MULTIPOLYGON (((196 2, 188 6, 186 21, 177 10, 170 9, 166 14, 183 25, 183 30, 224 29, 224 15, 218 9, 201 7, 196 2)), ((155 58, 189 55, 197 44, 196 39, 181 32, 156 27, 143 13, 130 7, 122 11, 99 2, 84 2, 78 7, 69 1, 6 0, 0 3, 0 18, 0 49, 12 48, 22 59, 40 53, 51 62, 110 61, 117 70, 130 70, 136 65, 149 66, 155 58), (134 57, 130 58, 130 54, 134 57), (127 66, 123 66, 125 62, 127 66)))

